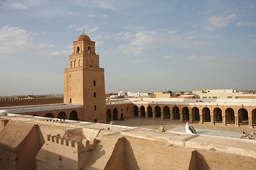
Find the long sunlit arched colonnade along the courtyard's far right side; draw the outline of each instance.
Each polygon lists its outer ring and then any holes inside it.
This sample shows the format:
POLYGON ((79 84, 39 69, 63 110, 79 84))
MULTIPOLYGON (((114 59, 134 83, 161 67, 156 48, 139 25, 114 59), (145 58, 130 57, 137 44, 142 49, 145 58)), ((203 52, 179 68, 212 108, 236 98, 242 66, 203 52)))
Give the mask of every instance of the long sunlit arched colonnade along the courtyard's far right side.
POLYGON ((134 118, 152 118, 161 120, 180 120, 189 123, 209 122, 211 125, 222 123, 235 126, 256 125, 256 108, 243 106, 176 106, 176 105, 134 105, 134 118))

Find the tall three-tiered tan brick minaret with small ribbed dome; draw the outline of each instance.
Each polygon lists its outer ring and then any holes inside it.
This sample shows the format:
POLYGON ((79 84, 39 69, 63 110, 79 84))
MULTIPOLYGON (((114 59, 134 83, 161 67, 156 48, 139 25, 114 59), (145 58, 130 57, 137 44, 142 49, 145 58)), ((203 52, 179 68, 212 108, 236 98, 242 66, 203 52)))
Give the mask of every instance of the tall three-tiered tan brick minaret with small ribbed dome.
POLYGON ((69 68, 64 71, 64 103, 82 105, 80 120, 106 122, 104 69, 100 68, 95 42, 85 33, 73 42, 69 68))

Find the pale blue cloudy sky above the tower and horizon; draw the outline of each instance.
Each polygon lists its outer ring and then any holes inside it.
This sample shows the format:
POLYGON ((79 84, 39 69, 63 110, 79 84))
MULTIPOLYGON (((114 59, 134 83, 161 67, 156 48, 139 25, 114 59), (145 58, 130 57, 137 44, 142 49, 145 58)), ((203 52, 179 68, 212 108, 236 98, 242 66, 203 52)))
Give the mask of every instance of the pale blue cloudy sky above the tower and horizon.
POLYGON ((63 94, 83 29, 106 93, 256 89, 255 0, 1 0, 0 96, 63 94))

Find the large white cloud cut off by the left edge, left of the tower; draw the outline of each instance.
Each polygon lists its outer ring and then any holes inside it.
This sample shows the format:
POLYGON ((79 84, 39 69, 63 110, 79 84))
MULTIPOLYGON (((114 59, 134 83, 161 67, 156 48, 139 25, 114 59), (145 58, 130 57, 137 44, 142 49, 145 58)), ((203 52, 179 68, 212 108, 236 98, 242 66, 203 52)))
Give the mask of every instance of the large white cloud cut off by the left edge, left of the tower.
POLYGON ((50 47, 49 45, 33 43, 33 35, 26 30, 4 26, 0 28, 0 53, 28 52, 50 47))

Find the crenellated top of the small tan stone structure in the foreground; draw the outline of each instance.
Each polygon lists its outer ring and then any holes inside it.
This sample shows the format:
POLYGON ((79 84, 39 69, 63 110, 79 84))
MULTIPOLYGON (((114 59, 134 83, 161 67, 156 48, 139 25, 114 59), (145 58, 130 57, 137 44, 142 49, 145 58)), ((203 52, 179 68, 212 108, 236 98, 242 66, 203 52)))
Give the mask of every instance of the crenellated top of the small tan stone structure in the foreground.
POLYGON ((60 135, 47 135, 47 144, 48 145, 56 145, 60 147, 70 147, 70 149, 75 149, 77 153, 83 153, 92 150, 97 143, 97 139, 93 138, 91 140, 70 140, 65 137, 60 137, 60 135))

